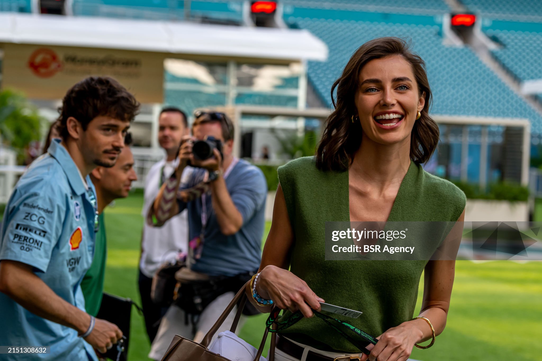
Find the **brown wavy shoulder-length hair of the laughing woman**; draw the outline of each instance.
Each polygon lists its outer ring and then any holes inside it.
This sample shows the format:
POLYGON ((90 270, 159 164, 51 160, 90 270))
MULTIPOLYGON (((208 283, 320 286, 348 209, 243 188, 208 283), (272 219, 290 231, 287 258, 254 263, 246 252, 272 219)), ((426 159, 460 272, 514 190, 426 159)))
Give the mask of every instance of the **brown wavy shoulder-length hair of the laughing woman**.
POLYGON ((420 96, 425 91, 422 116, 416 120, 410 134, 410 159, 416 163, 429 160, 438 143, 438 126, 429 116, 431 89, 425 71, 425 62, 412 52, 411 43, 398 37, 380 37, 366 42, 354 52, 343 74, 331 87, 331 99, 335 110, 327 117, 324 133, 316 152, 316 164, 321 170, 346 170, 361 144, 359 122, 352 122, 357 109, 354 97, 359 87, 359 73, 364 65, 388 55, 401 55, 412 65, 420 96), (333 98, 337 89, 337 97, 333 98))

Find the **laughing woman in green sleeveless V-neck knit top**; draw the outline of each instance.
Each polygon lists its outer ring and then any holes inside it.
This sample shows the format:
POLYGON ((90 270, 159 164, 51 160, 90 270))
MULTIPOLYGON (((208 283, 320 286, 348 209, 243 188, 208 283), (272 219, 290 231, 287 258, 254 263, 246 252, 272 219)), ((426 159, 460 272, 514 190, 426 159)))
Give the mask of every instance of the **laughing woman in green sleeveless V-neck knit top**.
POLYGON ((443 331, 455 261, 326 261, 325 224, 462 221, 466 199, 421 166, 436 148, 438 127, 428 114, 424 61, 409 44, 396 37, 363 44, 335 90, 315 157, 278 170, 272 226, 247 293, 260 310, 269 311, 270 300, 287 310, 282 324, 298 310, 306 317, 281 327, 275 360, 405 361, 416 344, 431 339, 431 346, 443 331), (423 303, 412 318, 422 272, 423 303), (363 311, 349 325, 377 342, 346 337, 320 314, 312 317, 320 302, 363 311))

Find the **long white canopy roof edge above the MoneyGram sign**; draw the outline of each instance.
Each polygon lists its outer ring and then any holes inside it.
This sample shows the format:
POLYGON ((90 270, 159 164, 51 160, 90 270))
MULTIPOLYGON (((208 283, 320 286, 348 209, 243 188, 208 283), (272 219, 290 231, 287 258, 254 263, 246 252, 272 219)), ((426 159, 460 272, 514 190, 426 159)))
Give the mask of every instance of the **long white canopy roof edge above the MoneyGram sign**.
POLYGON ((280 60, 327 58, 326 44, 307 30, 13 12, 0 13, 0 42, 280 60))

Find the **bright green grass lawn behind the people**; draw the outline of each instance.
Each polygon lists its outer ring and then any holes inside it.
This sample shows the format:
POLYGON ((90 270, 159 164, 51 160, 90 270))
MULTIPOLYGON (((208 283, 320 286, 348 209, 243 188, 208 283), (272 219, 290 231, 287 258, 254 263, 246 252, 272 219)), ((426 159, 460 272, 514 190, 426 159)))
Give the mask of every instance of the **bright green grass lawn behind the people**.
MULTIPOLYGON (((108 259, 105 291, 140 304, 137 288, 142 197, 134 194, 106 208, 108 259)), ((269 232, 269 222, 266 232, 269 232)), ((423 276, 415 316, 420 311, 423 276)), ((149 360, 143 317, 132 313, 131 361, 149 360)), ((250 318, 240 336, 260 344, 265 315, 250 318)), ((378 336, 378 335, 375 335, 378 336)), ((454 291, 444 332, 412 358, 429 361, 542 359, 542 262, 457 261, 454 291)), ((264 352, 264 355, 266 352, 264 352)))

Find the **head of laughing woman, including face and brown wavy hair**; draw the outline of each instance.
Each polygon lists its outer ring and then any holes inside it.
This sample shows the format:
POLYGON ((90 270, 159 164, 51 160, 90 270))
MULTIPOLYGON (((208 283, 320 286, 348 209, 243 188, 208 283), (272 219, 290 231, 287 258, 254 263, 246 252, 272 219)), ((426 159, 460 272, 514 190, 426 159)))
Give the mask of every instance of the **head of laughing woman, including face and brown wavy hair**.
POLYGON ((389 37, 369 41, 354 52, 331 87, 335 110, 318 147, 319 168, 345 170, 354 152, 363 152, 364 139, 384 144, 402 141, 403 147, 409 143, 408 149, 401 150, 408 151, 413 161, 429 160, 437 146, 438 126, 429 116, 432 94, 425 62, 409 49, 410 44, 389 37), (392 114, 400 120, 386 121, 392 114))

